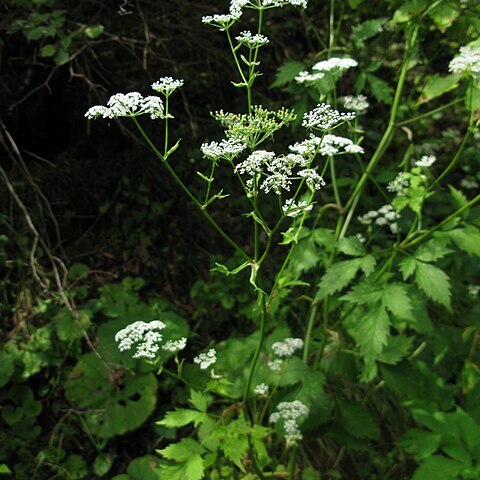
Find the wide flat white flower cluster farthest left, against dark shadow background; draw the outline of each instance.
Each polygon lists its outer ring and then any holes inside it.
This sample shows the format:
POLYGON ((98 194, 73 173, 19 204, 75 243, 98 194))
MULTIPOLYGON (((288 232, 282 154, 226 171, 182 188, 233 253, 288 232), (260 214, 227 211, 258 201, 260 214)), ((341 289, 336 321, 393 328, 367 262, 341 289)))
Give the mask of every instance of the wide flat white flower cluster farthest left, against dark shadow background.
POLYGON ((116 93, 107 102, 107 106, 95 105, 87 110, 88 119, 137 117, 150 114, 152 119, 164 118, 163 102, 160 97, 144 97, 138 92, 116 93))

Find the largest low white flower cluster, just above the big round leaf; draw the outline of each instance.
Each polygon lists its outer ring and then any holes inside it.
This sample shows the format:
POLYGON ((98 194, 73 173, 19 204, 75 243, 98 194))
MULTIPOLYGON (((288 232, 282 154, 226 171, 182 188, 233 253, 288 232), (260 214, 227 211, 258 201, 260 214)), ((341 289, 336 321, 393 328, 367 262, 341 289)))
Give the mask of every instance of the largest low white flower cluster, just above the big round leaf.
POLYGON ((155 358, 160 348, 163 335, 158 330, 163 330, 165 324, 159 320, 152 322, 134 322, 117 332, 115 341, 121 352, 130 350, 136 345, 133 358, 155 358))

